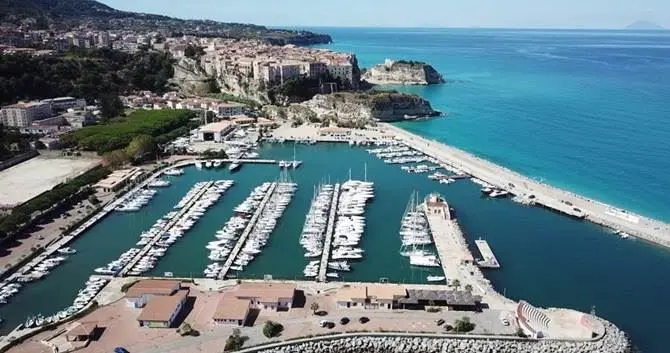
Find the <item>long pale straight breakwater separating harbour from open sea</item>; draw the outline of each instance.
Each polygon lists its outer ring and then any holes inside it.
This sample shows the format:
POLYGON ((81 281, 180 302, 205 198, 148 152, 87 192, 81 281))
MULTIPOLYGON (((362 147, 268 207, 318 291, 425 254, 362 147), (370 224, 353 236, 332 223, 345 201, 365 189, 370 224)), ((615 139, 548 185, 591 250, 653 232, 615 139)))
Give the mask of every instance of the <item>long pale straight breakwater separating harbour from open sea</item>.
POLYGON ((625 232, 631 236, 670 248, 670 225, 652 218, 589 199, 585 196, 538 182, 506 167, 487 161, 437 140, 416 135, 403 128, 380 123, 409 146, 453 165, 475 178, 509 191, 515 201, 535 204, 568 216, 625 232), (534 196, 534 197, 531 197, 534 196), (578 208, 581 212, 575 211, 578 208))

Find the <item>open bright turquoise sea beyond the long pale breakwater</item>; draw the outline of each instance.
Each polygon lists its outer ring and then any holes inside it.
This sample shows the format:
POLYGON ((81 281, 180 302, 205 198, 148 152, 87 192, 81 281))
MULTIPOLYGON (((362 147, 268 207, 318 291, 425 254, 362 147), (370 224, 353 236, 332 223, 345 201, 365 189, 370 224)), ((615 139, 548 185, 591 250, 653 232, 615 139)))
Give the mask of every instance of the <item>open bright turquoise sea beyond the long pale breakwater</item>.
POLYGON ((432 64, 447 119, 402 124, 552 185, 670 221, 670 31, 317 28, 325 46, 432 64))

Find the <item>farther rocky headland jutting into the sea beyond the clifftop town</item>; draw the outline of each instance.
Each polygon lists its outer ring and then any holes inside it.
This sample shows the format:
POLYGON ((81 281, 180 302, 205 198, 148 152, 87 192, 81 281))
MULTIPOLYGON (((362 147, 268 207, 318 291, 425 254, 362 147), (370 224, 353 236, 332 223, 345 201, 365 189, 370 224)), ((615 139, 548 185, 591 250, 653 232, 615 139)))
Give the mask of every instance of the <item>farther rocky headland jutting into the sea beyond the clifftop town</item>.
POLYGON ((374 85, 432 85, 445 82, 435 68, 424 62, 389 59, 368 70, 363 79, 374 85))

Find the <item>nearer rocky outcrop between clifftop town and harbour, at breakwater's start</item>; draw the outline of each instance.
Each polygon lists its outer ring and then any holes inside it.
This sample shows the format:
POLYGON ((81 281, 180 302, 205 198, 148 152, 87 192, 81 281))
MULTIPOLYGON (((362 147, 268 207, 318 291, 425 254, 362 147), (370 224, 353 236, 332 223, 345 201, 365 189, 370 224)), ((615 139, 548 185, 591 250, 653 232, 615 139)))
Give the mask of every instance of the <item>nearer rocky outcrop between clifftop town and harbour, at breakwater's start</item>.
POLYGON ((430 102, 413 94, 393 91, 338 92, 288 107, 266 106, 273 118, 294 122, 333 123, 342 127, 364 127, 375 122, 439 116, 430 102))

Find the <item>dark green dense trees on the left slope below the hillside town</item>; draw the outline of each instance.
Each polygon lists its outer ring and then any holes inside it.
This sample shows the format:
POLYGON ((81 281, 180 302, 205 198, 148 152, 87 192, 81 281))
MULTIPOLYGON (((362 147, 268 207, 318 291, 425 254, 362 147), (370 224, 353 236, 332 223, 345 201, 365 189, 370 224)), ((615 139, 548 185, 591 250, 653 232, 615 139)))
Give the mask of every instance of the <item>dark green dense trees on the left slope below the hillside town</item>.
POLYGON ((135 90, 164 92, 173 75, 167 54, 100 49, 60 56, 0 56, 0 104, 58 96, 85 98, 135 90))

